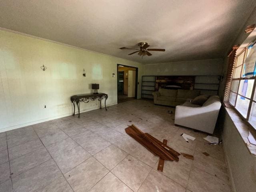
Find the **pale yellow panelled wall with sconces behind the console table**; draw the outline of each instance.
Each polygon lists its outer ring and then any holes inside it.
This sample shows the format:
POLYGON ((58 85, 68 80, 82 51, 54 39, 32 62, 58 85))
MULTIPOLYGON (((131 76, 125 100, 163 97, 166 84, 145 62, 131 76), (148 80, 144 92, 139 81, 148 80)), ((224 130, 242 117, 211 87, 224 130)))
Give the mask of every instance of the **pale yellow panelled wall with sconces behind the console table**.
MULTIPOLYGON (((117 104, 117 64, 138 67, 141 81, 140 63, 0 30, 0 132, 71 115, 70 96, 92 92, 92 83, 117 104)), ((90 101, 81 111, 98 107, 90 101)))

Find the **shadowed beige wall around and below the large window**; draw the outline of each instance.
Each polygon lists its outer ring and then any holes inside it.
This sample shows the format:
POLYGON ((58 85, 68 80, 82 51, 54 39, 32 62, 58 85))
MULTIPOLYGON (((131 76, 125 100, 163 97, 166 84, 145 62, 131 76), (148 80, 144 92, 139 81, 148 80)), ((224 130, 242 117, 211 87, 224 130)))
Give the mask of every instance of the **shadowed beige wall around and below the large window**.
MULTIPOLYGON (((256 24, 256 9, 254 9, 252 15, 241 28, 238 38, 234 42, 231 42, 230 48, 235 44, 241 45, 244 42, 249 35, 244 33, 244 29, 250 24, 256 24)), ((222 69, 223 73, 226 72, 227 64, 228 58, 226 57, 222 69)), ((223 97, 224 85, 225 80, 220 84, 219 94, 221 97, 223 97)), ((226 154, 226 160, 230 168, 231 183, 234 188, 234 192, 255 192, 256 157, 252 156, 247 150, 244 141, 225 109, 222 109, 220 112, 218 124, 223 130, 223 146, 226 154)))

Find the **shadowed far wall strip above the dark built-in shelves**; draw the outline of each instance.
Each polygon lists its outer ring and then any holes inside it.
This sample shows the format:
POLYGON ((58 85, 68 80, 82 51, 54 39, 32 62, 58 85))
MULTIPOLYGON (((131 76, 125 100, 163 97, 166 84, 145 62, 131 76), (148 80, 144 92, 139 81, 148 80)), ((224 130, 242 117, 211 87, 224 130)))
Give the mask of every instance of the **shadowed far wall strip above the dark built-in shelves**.
POLYGON ((220 75, 222 59, 147 64, 145 75, 220 75))

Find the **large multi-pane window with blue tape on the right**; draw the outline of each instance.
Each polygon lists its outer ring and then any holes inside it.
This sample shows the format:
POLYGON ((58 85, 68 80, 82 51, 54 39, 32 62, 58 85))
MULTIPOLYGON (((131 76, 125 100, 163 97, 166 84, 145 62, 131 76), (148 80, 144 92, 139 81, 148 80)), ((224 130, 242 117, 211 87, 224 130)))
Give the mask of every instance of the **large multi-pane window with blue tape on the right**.
POLYGON ((256 42, 236 56, 229 103, 256 129, 256 42))

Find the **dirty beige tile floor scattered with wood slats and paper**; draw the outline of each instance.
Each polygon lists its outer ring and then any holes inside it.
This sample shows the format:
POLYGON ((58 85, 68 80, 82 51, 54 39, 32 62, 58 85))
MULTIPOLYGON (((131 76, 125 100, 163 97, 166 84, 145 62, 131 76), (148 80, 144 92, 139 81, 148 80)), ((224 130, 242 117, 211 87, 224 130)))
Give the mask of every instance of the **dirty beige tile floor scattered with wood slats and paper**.
POLYGON ((222 146, 174 126, 167 110, 132 100, 0 133, 0 192, 230 192, 222 146), (130 124, 194 160, 180 156, 158 172, 158 157, 126 135, 130 124))

